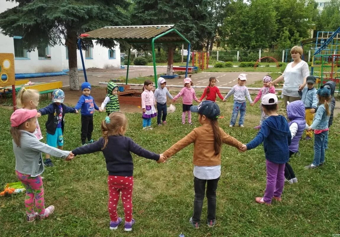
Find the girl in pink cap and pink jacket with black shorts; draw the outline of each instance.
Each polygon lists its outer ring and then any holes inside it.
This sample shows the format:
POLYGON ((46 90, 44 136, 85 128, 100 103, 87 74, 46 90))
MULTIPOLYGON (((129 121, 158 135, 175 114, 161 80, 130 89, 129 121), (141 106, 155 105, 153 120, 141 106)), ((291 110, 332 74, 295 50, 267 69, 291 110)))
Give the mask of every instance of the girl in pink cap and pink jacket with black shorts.
POLYGON ((193 86, 191 79, 189 77, 186 77, 184 79, 184 87, 182 88, 180 93, 178 93, 178 95, 173 97, 173 100, 172 100, 172 102, 174 102, 176 99, 183 96, 182 124, 185 124, 185 117, 186 117, 186 114, 188 114, 188 123, 192 125, 191 112, 190 112, 190 107, 192 106, 192 100, 195 100, 198 103, 200 102, 196 97, 195 90, 191 86, 193 86))

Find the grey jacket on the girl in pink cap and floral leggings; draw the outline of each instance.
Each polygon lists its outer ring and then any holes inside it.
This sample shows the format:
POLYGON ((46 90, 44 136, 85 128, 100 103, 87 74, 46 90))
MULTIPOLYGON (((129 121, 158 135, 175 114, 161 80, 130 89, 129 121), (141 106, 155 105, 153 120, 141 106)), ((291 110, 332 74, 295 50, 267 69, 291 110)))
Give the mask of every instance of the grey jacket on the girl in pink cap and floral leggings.
POLYGON ((40 142, 33 133, 21 131, 20 145, 12 140, 13 152, 15 155, 15 170, 22 174, 28 174, 36 177, 44 172, 44 163, 41 152, 50 154, 55 157, 66 158, 70 152, 62 151, 55 147, 40 142))

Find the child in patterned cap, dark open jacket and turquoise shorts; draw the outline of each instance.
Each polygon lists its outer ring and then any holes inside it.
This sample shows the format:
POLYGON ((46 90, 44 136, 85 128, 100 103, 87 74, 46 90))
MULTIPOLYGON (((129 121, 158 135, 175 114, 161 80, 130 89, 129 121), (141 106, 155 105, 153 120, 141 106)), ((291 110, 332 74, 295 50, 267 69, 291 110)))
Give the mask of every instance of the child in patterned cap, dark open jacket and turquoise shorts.
MULTIPOLYGON (((47 145, 63 149, 64 145, 64 116, 66 113, 78 113, 78 110, 63 104, 65 93, 63 90, 56 89, 52 92, 52 104, 39 109, 37 116, 48 114, 46 126, 47 145)), ((46 154, 44 164, 52 167, 53 163, 49 154, 46 154)))

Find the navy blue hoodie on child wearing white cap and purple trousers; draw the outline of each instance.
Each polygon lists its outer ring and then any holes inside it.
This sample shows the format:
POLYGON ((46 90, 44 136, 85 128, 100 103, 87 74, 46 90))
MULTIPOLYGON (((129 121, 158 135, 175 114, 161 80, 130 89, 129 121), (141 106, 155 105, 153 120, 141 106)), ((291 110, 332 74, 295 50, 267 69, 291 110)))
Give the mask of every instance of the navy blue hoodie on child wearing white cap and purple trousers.
POLYGON ((247 150, 257 147, 262 142, 267 160, 277 164, 288 162, 291 134, 284 116, 269 116, 263 121, 256 137, 246 145, 247 150))

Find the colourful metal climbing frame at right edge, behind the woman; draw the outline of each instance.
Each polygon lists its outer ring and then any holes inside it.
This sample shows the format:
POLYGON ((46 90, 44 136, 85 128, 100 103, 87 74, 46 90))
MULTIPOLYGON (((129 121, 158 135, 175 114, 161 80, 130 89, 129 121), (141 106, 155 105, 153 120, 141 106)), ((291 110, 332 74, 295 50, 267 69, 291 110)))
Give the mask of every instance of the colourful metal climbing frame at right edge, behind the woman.
MULTIPOLYGON (((336 31, 319 31, 312 57, 311 75, 318 78, 319 86, 327 81, 340 80, 340 27, 336 31)), ((338 88, 340 93, 340 84, 338 88)))

